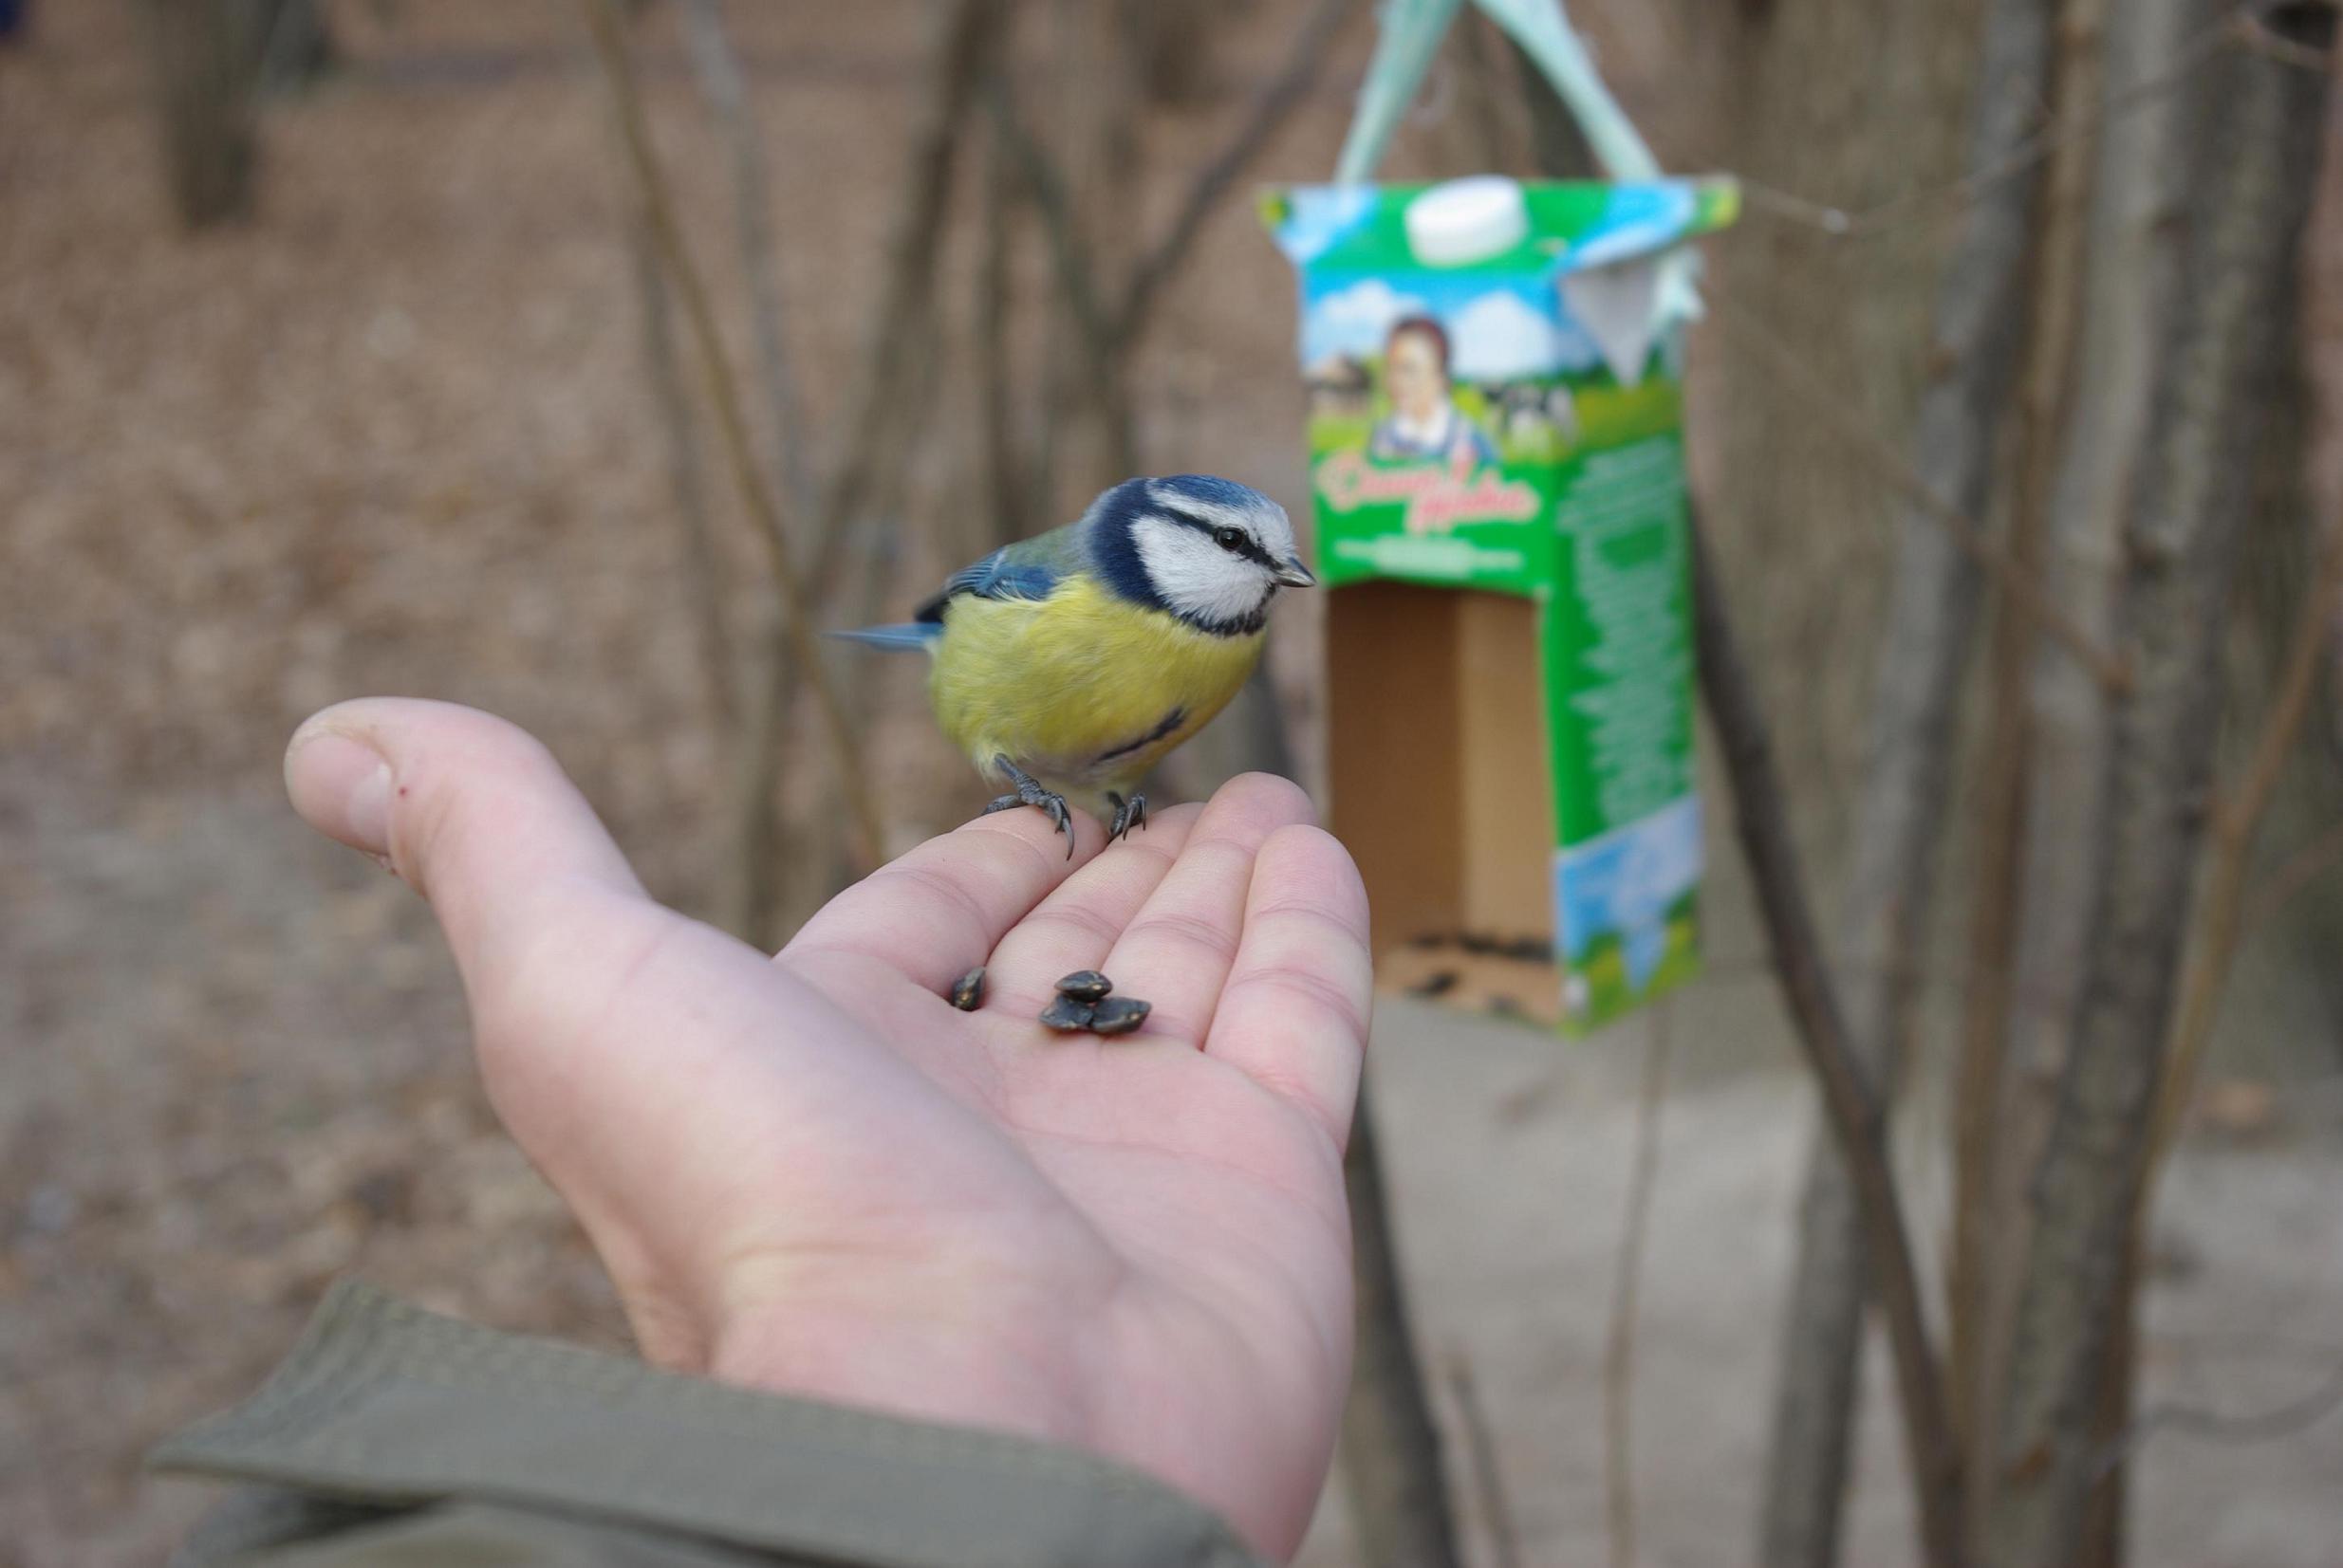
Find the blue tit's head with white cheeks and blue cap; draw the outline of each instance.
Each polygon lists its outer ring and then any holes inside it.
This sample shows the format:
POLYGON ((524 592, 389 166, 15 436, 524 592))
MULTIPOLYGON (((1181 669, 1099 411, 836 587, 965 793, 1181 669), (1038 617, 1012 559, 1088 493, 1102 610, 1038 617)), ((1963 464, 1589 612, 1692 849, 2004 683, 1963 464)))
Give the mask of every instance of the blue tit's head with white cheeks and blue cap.
POLYGON ((1258 632, 1279 587, 1317 583, 1286 508, 1207 473, 1125 480, 1099 496, 1092 527, 1115 587, 1207 632, 1258 632))

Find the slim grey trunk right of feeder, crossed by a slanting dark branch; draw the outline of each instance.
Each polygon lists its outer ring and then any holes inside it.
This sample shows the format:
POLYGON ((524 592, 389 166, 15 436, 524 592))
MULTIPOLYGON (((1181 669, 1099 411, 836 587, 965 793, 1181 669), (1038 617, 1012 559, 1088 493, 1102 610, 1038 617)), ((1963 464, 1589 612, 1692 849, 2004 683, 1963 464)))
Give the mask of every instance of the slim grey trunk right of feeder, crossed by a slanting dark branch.
MULTIPOLYGON (((2041 124, 2052 12, 2052 0, 1996 0, 1977 77, 1973 169, 2006 164, 2041 124)), ((1914 468, 1970 520, 1982 517, 1992 496, 2001 410, 2017 381, 2034 187, 2031 171, 1985 187, 1968 208, 1938 302, 1914 468)), ((1919 506, 1898 508, 1895 538, 1893 608, 1877 660, 1839 941, 1849 1044, 1881 1100, 1893 1100, 1905 1058, 1982 580, 1977 564, 1919 506)), ((1867 1278, 1853 1187, 1832 1137, 1818 1133, 1774 1402, 1767 1568, 1828 1568, 1839 1556, 1867 1278)))

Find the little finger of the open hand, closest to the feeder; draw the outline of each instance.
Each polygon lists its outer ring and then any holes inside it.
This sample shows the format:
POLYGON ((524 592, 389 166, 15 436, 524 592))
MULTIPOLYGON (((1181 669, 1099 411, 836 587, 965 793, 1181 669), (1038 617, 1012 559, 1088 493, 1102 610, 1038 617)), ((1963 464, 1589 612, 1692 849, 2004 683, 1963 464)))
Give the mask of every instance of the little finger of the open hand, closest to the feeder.
POLYGON ((1343 1147, 1373 985, 1366 887, 1350 852, 1319 828, 1279 828, 1254 859, 1244 941, 1207 1055, 1298 1105, 1343 1147))

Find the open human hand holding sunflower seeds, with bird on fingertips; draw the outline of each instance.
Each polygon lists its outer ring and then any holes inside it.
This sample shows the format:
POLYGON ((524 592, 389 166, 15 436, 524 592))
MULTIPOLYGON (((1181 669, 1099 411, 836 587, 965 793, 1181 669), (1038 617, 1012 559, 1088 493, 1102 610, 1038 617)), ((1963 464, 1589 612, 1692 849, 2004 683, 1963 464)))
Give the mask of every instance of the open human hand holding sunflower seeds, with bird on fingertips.
POLYGON ((440 702, 316 714, 286 784, 422 892, 480 1074, 649 1360, 1132 1463, 1300 1542, 1350 1371, 1366 894, 1246 775, 1066 861, 928 840, 778 957, 654 903, 560 765, 440 702), (977 1013, 942 992, 989 964, 977 1013), (1052 1034, 1104 969, 1139 1034, 1052 1034))

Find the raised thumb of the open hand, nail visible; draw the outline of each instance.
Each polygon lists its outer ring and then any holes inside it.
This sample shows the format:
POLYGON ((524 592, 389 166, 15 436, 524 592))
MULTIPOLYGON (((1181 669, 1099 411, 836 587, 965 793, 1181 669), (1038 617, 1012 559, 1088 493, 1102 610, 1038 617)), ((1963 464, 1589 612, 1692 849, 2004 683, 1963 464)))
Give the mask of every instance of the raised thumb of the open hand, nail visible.
POLYGON ((466 988, 494 983, 548 903, 588 887, 649 903, 553 754, 478 709, 405 697, 328 707, 286 747, 286 793, 314 828, 431 901, 466 988))

